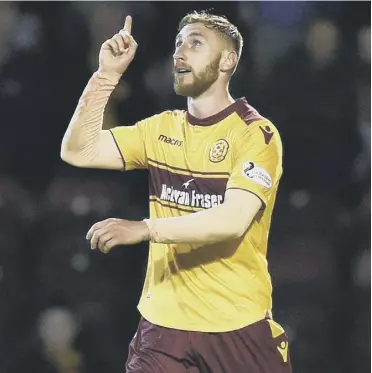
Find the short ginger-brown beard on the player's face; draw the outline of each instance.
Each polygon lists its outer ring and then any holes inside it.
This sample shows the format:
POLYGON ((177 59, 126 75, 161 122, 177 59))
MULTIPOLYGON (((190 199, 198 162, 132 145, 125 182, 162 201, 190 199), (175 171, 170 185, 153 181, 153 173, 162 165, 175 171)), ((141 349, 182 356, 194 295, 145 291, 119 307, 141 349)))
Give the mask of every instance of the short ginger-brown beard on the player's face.
POLYGON ((219 62, 220 56, 208 64, 205 70, 199 74, 196 74, 192 69, 189 75, 186 77, 180 77, 173 73, 173 88, 177 95, 186 97, 198 97, 204 93, 217 79, 219 76, 219 62), (185 82, 184 80, 189 79, 191 81, 185 82), (190 79, 191 78, 191 79, 190 79))

